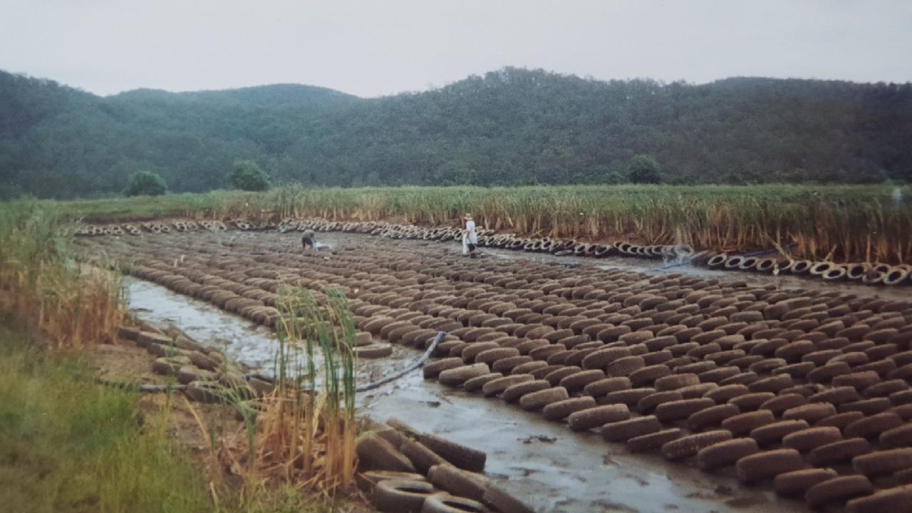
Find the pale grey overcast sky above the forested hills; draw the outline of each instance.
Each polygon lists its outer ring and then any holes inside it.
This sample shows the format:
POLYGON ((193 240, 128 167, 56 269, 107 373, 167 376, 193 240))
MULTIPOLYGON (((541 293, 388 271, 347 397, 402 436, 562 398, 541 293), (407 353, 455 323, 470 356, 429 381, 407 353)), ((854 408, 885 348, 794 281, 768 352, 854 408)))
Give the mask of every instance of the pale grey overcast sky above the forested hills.
POLYGON ((0 69, 98 94, 359 96, 504 66, 596 79, 912 81, 912 1, 0 0, 0 69))

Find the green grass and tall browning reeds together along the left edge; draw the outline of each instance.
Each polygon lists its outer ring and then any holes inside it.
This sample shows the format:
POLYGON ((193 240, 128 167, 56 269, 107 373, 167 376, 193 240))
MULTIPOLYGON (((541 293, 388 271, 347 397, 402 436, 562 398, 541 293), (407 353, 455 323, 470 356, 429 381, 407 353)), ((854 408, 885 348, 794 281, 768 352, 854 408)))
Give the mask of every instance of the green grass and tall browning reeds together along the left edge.
POLYGON ((67 257, 50 205, 0 208, 0 292, 11 316, 0 328, 0 504, 212 510, 189 457, 165 437, 167 419, 140 429, 138 394, 99 387, 78 363, 76 350, 110 340, 122 319, 119 283, 67 257), (9 328, 11 318, 21 325, 9 328))

